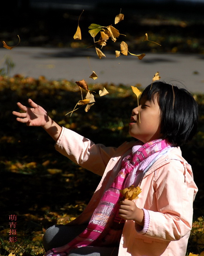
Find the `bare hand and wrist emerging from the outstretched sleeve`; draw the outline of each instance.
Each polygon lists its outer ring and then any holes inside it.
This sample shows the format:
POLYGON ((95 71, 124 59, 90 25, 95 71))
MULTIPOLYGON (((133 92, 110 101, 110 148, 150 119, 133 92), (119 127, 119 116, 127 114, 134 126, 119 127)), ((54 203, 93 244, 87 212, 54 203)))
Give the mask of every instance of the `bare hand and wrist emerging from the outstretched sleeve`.
POLYGON ((60 136, 62 128, 55 123, 48 115, 45 109, 37 105, 31 99, 28 100, 31 107, 26 107, 20 102, 17 103, 20 110, 24 113, 13 111, 12 113, 17 116, 17 121, 26 123, 28 126, 41 126, 45 131, 55 140, 60 136))

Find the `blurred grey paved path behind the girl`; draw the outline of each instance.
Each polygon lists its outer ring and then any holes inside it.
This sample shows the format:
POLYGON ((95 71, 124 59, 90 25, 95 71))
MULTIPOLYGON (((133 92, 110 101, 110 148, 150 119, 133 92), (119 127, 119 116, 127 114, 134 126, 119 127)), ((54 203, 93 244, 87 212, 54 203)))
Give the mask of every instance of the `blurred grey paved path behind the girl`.
POLYGON ((191 92, 204 93, 204 55, 147 53, 139 60, 135 56, 116 58, 115 54, 105 50, 104 53, 106 58, 99 59, 94 49, 1 48, 0 67, 5 56, 9 56, 15 63, 10 76, 22 74, 38 78, 43 75, 49 80, 85 79, 87 83, 141 84, 143 88, 152 82, 152 77, 159 71, 161 80, 176 80, 191 92), (89 78, 92 70, 98 75, 95 81, 89 78))

